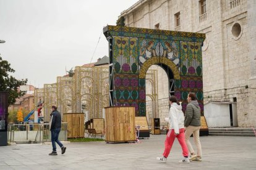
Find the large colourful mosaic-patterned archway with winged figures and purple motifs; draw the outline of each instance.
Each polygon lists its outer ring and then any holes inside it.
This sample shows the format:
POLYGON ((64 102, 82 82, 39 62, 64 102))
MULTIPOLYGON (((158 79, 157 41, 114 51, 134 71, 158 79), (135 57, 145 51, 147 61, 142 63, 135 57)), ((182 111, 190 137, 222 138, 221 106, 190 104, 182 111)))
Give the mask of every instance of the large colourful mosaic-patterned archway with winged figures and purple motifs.
POLYGON ((202 45, 205 34, 108 25, 109 105, 134 106, 146 115, 145 76, 151 65, 168 73, 170 94, 187 107, 195 92, 203 114, 202 45))

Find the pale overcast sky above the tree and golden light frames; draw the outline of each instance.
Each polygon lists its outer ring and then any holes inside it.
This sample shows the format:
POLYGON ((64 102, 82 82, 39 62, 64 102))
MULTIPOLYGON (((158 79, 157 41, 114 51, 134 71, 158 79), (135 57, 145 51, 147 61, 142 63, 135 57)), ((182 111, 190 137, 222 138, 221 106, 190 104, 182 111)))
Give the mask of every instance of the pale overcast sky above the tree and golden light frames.
MULTIPOLYGON (((103 26, 116 25, 117 17, 137 0, 0 0, 2 59, 14 68, 15 78, 43 87, 56 83, 65 69, 90 63, 103 26)), ((93 57, 108 55, 101 34, 93 57)))

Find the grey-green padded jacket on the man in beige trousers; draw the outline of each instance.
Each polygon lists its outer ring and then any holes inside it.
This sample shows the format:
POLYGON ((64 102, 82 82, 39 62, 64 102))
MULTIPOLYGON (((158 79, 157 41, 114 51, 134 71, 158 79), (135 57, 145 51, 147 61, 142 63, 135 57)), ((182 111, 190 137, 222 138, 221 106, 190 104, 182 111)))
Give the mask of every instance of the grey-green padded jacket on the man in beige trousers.
POLYGON ((201 111, 197 100, 187 105, 184 126, 201 126, 201 111))

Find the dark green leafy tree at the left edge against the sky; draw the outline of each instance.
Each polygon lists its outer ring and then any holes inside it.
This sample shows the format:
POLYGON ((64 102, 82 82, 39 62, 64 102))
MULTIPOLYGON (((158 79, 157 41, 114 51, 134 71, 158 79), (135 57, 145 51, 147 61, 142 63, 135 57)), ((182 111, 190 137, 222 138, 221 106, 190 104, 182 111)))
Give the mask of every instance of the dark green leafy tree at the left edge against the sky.
POLYGON ((15 72, 10 66, 11 64, 6 60, 2 60, 0 56, 0 91, 9 92, 8 104, 12 105, 15 103, 15 99, 26 93, 25 91, 18 91, 18 87, 25 85, 28 80, 19 80, 10 76, 9 73, 15 72))

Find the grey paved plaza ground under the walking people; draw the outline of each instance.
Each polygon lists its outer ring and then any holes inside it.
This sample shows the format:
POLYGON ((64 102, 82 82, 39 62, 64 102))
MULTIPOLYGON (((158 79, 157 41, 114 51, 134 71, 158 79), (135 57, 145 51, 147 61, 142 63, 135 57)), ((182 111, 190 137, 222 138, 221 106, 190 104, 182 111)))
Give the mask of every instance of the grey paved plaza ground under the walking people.
POLYGON ((48 156, 51 145, 0 147, 0 169, 256 169, 256 137, 201 137, 203 161, 189 164, 179 163, 177 140, 168 162, 158 163, 164 139, 158 135, 140 144, 69 143, 64 155, 58 148, 58 156, 48 156))

